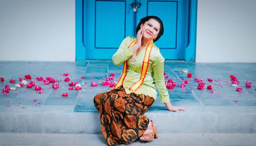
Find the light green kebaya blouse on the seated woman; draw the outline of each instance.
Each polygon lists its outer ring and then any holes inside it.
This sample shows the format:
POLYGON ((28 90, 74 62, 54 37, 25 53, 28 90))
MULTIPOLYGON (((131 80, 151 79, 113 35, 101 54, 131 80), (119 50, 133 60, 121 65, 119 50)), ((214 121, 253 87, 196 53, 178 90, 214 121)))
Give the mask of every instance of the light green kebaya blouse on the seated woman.
MULTIPOLYGON (((144 59, 145 49, 144 47, 138 54, 135 64, 131 64, 131 56, 133 55, 132 47, 128 48, 129 45, 136 40, 136 37, 126 37, 121 45, 119 46, 117 52, 113 55, 112 60, 115 65, 122 65, 127 61, 127 71, 126 76, 123 81, 123 87, 126 94, 130 94, 130 86, 140 79, 142 63, 144 59)), ((153 48, 150 55, 150 64, 148 65, 147 73, 144 81, 140 88, 136 90, 138 94, 144 94, 153 97, 156 100, 157 89, 155 83, 157 84, 160 101, 169 102, 169 95, 164 82, 163 70, 164 70, 164 58, 161 55, 159 48, 153 44, 153 48)))

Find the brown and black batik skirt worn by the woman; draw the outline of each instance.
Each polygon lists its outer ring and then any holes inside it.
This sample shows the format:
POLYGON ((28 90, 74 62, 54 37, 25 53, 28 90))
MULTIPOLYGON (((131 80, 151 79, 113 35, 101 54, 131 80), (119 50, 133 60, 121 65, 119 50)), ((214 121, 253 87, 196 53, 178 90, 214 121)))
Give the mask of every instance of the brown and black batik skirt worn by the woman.
POLYGON ((94 105, 100 113, 101 130, 108 145, 130 144, 140 137, 149 123, 144 113, 154 101, 143 94, 126 94, 122 86, 96 95, 94 105))

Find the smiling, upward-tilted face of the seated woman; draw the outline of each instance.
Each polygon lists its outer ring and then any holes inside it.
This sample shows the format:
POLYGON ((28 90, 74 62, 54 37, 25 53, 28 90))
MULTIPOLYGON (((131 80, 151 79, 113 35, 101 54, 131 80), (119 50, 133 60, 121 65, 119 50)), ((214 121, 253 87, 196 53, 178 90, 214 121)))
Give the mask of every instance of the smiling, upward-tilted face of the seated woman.
POLYGON ((155 19, 150 19, 144 24, 141 24, 140 28, 142 29, 144 39, 153 40, 158 36, 160 23, 155 19))

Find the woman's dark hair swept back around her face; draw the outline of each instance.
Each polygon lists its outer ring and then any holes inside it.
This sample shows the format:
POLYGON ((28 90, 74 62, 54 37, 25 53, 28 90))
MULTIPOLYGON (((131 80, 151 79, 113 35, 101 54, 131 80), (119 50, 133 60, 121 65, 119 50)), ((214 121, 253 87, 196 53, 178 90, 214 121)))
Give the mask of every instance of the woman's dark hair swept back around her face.
POLYGON ((154 40, 154 42, 156 42, 162 35, 163 35, 163 22, 160 18, 158 18, 157 16, 146 16, 144 18, 141 18, 140 19, 140 22, 139 24, 137 25, 137 28, 136 28, 136 34, 138 33, 138 31, 140 30, 140 25, 141 24, 144 24, 146 21, 150 20, 150 19, 154 19, 156 20, 157 22, 160 23, 160 30, 159 30, 159 33, 157 35, 157 38, 154 40))

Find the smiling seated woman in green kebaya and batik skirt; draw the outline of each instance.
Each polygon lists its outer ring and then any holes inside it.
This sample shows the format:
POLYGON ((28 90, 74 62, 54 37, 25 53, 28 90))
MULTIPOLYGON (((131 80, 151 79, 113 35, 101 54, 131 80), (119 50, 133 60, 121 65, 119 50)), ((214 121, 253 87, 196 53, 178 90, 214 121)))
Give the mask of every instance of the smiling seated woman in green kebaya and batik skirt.
POLYGON ((146 16, 136 28, 137 38, 126 37, 112 60, 123 65, 123 72, 114 87, 95 96, 94 105, 100 112, 101 130, 109 145, 130 144, 157 138, 157 127, 145 112, 157 97, 170 111, 185 110, 172 106, 165 86, 164 58, 154 45, 163 35, 163 23, 156 16, 146 16))

